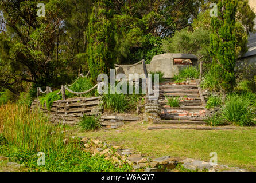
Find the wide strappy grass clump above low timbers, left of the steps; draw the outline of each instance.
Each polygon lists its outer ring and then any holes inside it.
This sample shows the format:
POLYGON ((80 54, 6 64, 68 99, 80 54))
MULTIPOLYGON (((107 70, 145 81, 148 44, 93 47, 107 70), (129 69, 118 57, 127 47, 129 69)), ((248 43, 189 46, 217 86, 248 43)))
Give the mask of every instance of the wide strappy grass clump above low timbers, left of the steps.
POLYGON ((123 113, 129 109, 129 100, 125 94, 103 94, 102 97, 104 109, 111 112, 123 113))

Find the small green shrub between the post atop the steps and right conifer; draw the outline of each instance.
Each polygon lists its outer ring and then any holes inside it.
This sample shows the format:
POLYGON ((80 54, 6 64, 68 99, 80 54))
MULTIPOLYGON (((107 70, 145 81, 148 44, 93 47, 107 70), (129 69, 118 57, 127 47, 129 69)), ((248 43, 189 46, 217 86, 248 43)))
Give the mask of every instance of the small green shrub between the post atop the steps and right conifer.
POLYGON ((215 74, 211 70, 204 74, 204 79, 201 86, 203 89, 209 89, 211 91, 219 91, 220 89, 219 81, 216 79, 215 74))

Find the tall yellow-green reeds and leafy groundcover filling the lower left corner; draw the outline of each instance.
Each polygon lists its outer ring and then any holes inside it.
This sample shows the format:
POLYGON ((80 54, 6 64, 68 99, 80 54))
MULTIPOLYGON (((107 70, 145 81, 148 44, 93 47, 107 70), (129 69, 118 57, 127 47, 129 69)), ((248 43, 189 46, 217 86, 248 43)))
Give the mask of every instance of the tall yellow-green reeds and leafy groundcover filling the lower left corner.
POLYGON ((130 171, 130 165, 115 166, 103 156, 83 151, 79 138, 65 136, 64 126, 53 126, 27 106, 0 107, 0 154, 13 157, 32 171, 130 171), (3 128, 5 126, 5 128, 3 128), (8 127, 6 127, 8 126, 8 127), (38 152, 45 153, 45 165, 38 166, 38 152))

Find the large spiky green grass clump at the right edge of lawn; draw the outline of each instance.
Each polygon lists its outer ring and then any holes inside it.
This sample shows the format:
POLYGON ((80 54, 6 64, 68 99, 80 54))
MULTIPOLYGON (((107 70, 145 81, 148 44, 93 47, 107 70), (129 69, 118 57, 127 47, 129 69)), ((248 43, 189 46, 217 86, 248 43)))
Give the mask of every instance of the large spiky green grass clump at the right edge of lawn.
POLYGON ((250 104, 249 99, 232 93, 226 98, 225 106, 222 109, 222 117, 227 122, 239 126, 253 125, 255 124, 255 113, 250 104))

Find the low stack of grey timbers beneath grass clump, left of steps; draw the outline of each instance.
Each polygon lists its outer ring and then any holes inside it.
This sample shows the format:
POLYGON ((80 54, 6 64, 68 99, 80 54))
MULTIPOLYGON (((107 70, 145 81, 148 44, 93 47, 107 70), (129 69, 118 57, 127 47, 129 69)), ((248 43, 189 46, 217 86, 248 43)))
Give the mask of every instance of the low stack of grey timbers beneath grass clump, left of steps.
POLYGON ((101 125, 107 129, 119 128, 125 125, 125 123, 141 121, 141 120, 143 120, 142 117, 132 116, 132 115, 126 115, 126 116, 122 116, 122 115, 107 116, 106 115, 100 118, 101 125))

